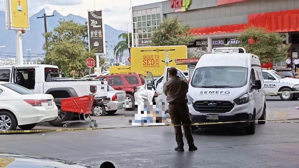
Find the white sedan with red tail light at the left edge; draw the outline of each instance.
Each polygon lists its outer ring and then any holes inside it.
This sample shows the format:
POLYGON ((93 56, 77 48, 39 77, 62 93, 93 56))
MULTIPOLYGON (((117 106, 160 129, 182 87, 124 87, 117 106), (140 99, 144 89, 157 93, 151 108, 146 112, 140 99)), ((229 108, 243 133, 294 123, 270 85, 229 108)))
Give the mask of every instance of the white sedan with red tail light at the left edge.
POLYGON ((32 129, 37 123, 55 120, 58 109, 52 95, 34 94, 22 86, 0 82, 0 131, 32 129))

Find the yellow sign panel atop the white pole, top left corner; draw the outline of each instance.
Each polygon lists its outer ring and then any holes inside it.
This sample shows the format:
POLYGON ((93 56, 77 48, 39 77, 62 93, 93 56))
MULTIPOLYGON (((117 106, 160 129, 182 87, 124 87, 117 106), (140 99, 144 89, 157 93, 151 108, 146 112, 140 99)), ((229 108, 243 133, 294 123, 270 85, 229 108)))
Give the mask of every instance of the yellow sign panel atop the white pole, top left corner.
POLYGON ((10 0, 10 29, 29 30, 28 2, 27 0, 10 0))

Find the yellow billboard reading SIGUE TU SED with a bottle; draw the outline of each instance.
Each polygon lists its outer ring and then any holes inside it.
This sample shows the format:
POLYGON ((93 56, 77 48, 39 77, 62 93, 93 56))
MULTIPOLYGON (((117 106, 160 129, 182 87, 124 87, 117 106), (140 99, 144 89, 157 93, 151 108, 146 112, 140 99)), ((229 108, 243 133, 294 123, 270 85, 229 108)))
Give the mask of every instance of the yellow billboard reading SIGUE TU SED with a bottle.
POLYGON ((187 58, 187 46, 152 46, 131 48, 131 72, 161 76, 166 66, 187 71, 187 65, 177 65, 175 59, 187 58))

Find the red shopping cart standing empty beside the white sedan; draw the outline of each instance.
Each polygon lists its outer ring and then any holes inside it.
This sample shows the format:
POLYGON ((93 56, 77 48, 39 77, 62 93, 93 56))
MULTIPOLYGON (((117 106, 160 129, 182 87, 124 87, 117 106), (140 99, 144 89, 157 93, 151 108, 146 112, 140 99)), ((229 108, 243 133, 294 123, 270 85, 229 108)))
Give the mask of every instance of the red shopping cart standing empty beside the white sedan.
POLYGON ((90 115, 89 119, 86 118, 86 114, 90 114, 93 108, 93 100, 94 95, 82 96, 82 97, 70 97, 61 100, 61 110, 83 114, 84 120, 80 118, 75 121, 64 121, 63 128, 69 127, 70 123, 90 123, 89 128, 97 127, 97 121, 91 119, 90 115), (92 124, 93 123, 93 124, 92 124))

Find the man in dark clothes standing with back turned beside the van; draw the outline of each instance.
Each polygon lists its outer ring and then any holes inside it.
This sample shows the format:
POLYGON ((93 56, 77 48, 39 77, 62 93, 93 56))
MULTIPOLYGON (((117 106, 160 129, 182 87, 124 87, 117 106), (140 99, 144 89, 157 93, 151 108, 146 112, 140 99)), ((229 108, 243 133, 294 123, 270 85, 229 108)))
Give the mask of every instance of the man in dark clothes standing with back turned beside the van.
MULTIPOLYGON (((174 67, 168 69, 171 78, 163 86, 163 92, 167 96, 168 110, 171 123, 174 125, 183 124, 185 137, 189 145, 189 151, 197 150, 191 131, 191 118, 187 106, 188 82, 186 79, 178 77, 178 70, 174 67)), ((184 151, 183 133, 181 126, 174 126, 175 140, 178 144, 174 148, 176 151, 184 151)))

